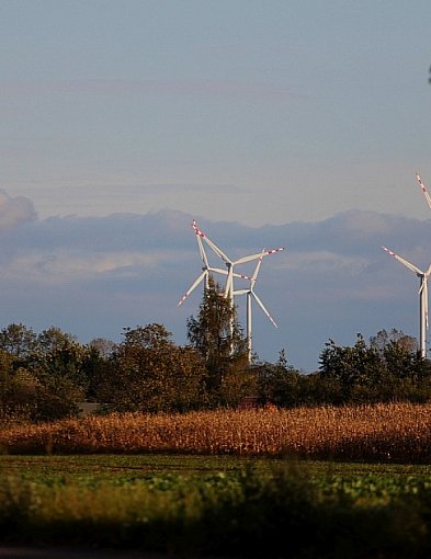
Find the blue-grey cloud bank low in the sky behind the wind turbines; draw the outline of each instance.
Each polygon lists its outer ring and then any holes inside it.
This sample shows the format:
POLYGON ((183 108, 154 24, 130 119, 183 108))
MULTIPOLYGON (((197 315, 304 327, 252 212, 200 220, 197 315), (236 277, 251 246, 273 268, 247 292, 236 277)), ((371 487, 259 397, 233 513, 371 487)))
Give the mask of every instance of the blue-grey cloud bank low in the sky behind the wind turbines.
MULTIPOLYGON (((185 343, 186 318, 202 296, 200 286, 177 307, 201 270, 192 217, 165 210, 36 220, 29 199, 1 193, 2 324, 54 324, 87 342, 118 340, 123 327, 157 321, 185 343)), ((393 327, 417 335, 417 278, 381 246, 428 266, 429 220, 348 212, 319 223, 250 228, 196 219, 231 258, 286 248, 264 260, 256 287, 279 323, 273 329, 256 309, 254 347, 262 360, 275 361, 285 349, 294 366, 313 370, 328 338, 351 344, 356 332, 368 336, 393 327)), ((242 300, 238 312, 245 326, 242 300)))

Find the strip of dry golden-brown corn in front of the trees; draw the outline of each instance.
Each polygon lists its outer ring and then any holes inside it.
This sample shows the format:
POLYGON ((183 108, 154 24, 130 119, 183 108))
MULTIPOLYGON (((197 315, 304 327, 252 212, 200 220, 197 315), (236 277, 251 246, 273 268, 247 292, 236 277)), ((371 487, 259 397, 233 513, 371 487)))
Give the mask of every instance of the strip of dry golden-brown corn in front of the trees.
POLYGON ((4 426, 5 454, 183 453, 430 463, 431 404, 117 414, 4 426))

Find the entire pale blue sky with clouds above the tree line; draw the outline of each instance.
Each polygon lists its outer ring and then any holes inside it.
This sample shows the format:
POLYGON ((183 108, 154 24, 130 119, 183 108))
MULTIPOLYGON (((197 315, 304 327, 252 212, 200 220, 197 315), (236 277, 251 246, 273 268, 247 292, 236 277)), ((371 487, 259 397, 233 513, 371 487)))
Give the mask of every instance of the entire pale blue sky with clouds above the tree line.
POLYGON ((285 247, 256 287, 262 360, 418 335, 417 278, 381 246, 431 261, 430 21, 428 0, 2 0, 0 327, 185 343, 195 218, 229 255, 285 247))

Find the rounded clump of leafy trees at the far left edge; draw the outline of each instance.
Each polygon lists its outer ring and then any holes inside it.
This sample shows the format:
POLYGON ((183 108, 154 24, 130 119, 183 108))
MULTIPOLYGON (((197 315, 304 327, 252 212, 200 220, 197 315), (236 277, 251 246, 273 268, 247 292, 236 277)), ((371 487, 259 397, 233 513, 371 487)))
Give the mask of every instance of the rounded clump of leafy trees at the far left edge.
POLYGON ((58 328, 41 334, 23 324, 0 332, 0 417, 55 420, 78 412, 88 378, 88 351, 58 328))

